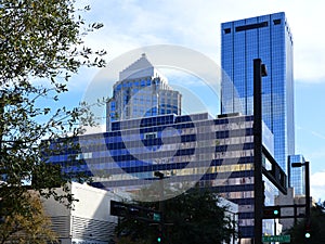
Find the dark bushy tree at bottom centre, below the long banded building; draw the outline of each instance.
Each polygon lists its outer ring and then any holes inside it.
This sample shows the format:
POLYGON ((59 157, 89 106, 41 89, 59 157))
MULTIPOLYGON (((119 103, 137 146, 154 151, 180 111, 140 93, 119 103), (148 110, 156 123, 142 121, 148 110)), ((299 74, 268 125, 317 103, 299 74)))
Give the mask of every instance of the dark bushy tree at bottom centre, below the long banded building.
MULTIPOLYGON (((218 196, 195 188, 165 202, 164 231, 158 223, 141 221, 136 217, 122 218, 117 226, 118 243, 222 243, 236 235, 235 223, 225 215, 226 207, 218 206, 218 196), (132 242, 130 242, 130 240, 132 242)), ((158 209, 158 204, 138 203, 158 209)))

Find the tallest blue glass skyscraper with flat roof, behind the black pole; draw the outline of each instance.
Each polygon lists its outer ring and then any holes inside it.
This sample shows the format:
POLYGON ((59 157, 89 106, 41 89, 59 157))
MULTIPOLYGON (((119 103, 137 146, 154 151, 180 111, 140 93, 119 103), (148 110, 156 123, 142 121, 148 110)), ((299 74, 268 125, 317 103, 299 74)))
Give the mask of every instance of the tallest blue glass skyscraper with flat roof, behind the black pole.
POLYGON ((285 13, 223 23, 221 38, 221 113, 252 115, 252 62, 260 57, 268 68, 262 119, 274 134, 274 157, 287 172, 288 155, 295 154, 295 121, 292 37, 285 13))

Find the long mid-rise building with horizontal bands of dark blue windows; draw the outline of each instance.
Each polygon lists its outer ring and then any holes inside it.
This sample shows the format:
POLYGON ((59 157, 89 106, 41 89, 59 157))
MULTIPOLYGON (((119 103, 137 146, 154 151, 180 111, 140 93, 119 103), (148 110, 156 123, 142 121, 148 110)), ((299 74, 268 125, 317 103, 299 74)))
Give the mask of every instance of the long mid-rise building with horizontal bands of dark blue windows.
MULTIPOLYGON (((193 114, 113 121, 109 132, 72 139, 80 150, 53 153, 49 163, 62 165, 66 172, 94 176, 94 187, 107 190, 134 191, 148 185, 157 180, 155 171, 164 172, 171 184, 195 182, 214 188, 239 205, 240 234, 251 237, 252 120, 252 116, 212 119, 208 114, 193 114), (77 167, 77 162, 82 166, 77 167)), ((51 146, 60 143, 52 142, 51 146)), ((264 180, 266 201, 272 204, 274 187, 264 180)))

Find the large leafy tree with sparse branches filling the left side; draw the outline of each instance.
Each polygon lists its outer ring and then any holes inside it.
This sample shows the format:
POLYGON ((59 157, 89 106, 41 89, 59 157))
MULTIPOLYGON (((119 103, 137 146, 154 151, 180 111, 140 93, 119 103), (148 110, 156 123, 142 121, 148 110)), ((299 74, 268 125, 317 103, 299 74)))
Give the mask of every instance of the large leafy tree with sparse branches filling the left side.
POLYGON ((60 94, 81 66, 105 65, 105 51, 94 52, 82 42, 87 33, 103 25, 87 25, 78 13, 90 8, 76 10, 74 4, 70 0, 0 3, 0 216, 27 215, 28 189, 57 201, 74 200, 65 184, 72 176, 60 165, 47 164, 47 150, 65 150, 69 142, 61 139, 61 149, 49 149, 42 141, 74 137, 95 124, 90 104, 74 108, 60 104, 60 94), (58 185, 67 194, 56 195, 58 185))

